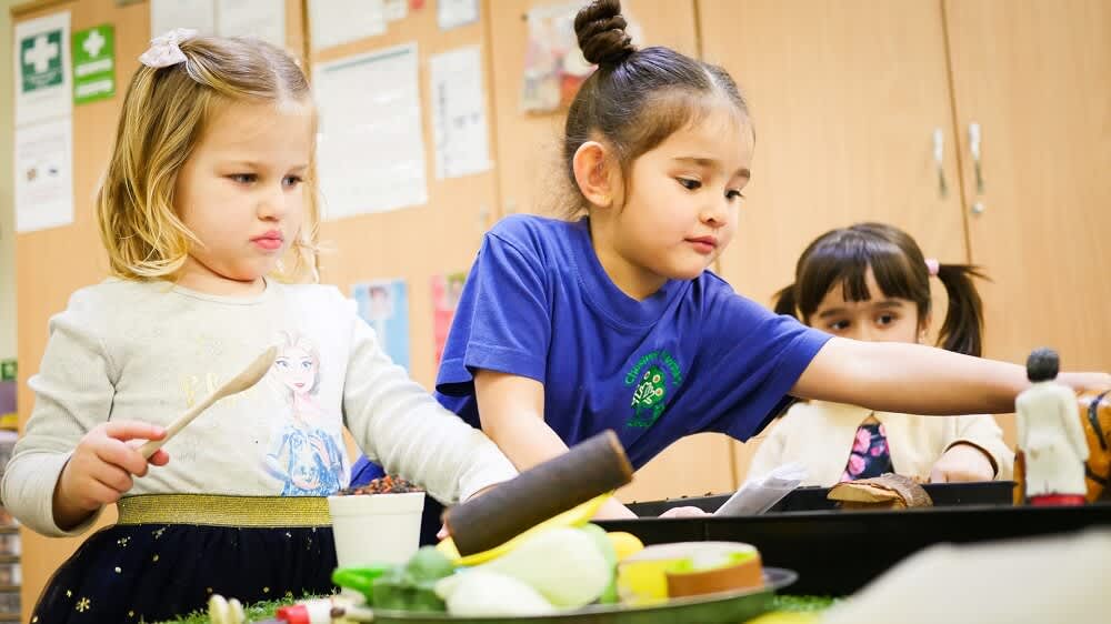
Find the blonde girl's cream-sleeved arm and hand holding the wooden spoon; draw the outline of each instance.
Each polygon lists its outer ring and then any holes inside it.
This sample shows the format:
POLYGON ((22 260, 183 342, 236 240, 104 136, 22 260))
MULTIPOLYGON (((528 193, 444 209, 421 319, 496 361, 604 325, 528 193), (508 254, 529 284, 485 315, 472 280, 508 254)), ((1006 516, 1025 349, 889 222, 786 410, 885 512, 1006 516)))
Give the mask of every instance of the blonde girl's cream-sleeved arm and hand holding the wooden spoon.
MULTIPOLYGON (((34 410, 3 474, 4 506, 44 535, 76 535, 100 509, 131 489, 148 462, 127 444, 161 436, 161 427, 108 423, 117 372, 100 339, 103 302, 82 292, 50 321, 50 340, 29 385, 34 410), (74 450, 76 449, 76 450, 74 450)), ((150 463, 164 464, 164 451, 150 463)))

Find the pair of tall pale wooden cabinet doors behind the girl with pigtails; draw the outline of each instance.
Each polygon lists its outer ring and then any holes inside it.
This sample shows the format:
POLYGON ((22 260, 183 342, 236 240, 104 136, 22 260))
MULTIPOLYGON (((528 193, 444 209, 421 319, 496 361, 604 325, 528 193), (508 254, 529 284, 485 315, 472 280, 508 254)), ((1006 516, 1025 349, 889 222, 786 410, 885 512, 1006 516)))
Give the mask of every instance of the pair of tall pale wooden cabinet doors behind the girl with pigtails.
MULTIPOLYGON (((987 356, 1021 363, 1051 345, 1068 369, 1111 369, 1111 7, 698 7, 703 58, 744 88, 757 128, 749 199, 721 259, 738 291, 770 303, 817 235, 887 221, 928 256, 972 261, 991 275, 981 290, 987 356)), ((934 309, 937 329, 944 300, 934 309)), ((1013 442, 1012 419, 1000 422, 1013 442)), ((742 481, 748 446, 737 451, 742 481)))

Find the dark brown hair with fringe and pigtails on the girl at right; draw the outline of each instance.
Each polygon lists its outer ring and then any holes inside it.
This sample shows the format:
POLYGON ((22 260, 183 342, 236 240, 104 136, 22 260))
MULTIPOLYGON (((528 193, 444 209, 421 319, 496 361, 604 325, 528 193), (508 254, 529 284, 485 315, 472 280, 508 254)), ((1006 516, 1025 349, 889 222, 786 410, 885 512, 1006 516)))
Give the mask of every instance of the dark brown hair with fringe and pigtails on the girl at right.
MULTIPOLYGON (((799 256, 794 283, 775 294, 775 312, 809 324, 822 299, 838 285, 847 301, 868 301, 869 269, 883 294, 914 302, 919 323, 925 322, 931 304, 925 256, 910 234, 885 223, 858 223, 818 236, 799 256)), ((983 303, 972 278, 987 279, 978 266, 938 265, 938 279, 949 294, 938 342, 949 351, 979 356, 983 303)))

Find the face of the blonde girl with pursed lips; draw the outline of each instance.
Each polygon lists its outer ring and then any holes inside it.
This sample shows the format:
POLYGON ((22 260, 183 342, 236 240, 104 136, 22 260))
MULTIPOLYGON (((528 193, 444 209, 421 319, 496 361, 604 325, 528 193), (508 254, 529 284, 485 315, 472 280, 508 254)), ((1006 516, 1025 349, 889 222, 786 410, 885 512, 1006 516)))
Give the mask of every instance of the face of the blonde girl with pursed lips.
POLYGON ((257 290, 300 234, 312 149, 307 105, 220 110, 174 187, 174 209, 200 240, 178 283, 213 294, 257 290))

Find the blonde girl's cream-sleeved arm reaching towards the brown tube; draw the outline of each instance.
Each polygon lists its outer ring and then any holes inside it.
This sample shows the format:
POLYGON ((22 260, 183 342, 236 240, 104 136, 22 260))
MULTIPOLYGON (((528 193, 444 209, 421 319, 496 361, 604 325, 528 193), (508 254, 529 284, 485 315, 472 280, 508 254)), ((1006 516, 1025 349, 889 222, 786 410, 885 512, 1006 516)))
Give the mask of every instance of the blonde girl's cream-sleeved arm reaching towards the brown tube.
POLYGON ((388 473, 448 504, 517 476, 498 446, 409 379, 359 319, 351 350, 344 419, 363 452, 388 473))

